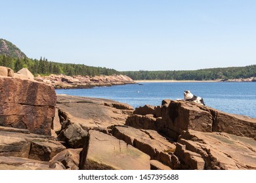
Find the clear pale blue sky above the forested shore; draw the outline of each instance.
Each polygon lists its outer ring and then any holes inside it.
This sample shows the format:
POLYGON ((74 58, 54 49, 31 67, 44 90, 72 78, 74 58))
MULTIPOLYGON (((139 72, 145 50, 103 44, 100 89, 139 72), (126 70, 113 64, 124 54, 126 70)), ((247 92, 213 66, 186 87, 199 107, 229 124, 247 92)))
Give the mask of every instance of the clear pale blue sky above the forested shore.
POLYGON ((254 0, 0 0, 0 38, 28 58, 117 71, 256 64, 254 0))

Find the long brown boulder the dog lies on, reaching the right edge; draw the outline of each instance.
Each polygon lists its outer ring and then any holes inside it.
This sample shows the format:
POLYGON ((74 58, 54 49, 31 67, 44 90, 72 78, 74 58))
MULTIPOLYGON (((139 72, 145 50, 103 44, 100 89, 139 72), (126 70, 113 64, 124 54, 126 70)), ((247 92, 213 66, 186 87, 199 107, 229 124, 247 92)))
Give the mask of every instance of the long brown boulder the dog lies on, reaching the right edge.
POLYGON ((167 122, 167 127, 178 135, 184 130, 193 129, 203 132, 225 132, 256 139, 255 118, 228 114, 191 102, 171 101, 167 108, 162 108, 162 119, 167 122))

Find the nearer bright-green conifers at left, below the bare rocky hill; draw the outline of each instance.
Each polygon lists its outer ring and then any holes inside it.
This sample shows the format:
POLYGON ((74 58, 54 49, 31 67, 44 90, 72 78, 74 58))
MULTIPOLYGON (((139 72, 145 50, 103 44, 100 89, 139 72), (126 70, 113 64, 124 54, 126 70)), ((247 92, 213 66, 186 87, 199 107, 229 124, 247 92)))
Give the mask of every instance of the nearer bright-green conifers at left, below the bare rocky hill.
POLYGON ((96 75, 114 75, 119 74, 115 69, 108 69, 106 67, 91 67, 84 64, 74 63, 57 63, 48 61, 48 59, 30 59, 30 58, 12 58, 11 56, 0 55, 0 65, 9 67, 14 72, 26 67, 33 75, 83 75, 83 76, 96 76, 96 75))

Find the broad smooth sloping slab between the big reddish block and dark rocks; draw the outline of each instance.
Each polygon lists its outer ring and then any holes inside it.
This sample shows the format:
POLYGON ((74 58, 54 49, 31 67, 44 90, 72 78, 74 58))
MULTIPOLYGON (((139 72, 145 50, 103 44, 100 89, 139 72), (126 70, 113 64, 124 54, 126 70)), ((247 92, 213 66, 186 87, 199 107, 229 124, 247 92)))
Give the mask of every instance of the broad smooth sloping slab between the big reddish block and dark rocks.
POLYGON ((133 112, 131 106, 112 100, 70 95, 58 95, 57 107, 62 127, 66 123, 80 124, 85 128, 123 125, 128 114, 133 112))

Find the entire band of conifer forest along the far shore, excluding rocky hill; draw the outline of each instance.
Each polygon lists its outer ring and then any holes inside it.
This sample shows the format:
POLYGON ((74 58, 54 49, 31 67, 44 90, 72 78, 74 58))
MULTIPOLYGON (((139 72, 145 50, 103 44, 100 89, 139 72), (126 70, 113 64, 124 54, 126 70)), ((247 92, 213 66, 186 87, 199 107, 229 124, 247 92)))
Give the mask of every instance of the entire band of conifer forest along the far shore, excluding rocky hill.
POLYGON ((34 75, 64 74, 73 75, 114 75, 122 74, 133 80, 226 80, 232 78, 256 77, 256 65, 245 67, 224 67, 199 69, 194 71, 116 71, 106 67, 91 67, 83 64, 57 63, 48 59, 13 58, 0 55, 0 65, 10 67, 14 72, 23 67, 28 68, 34 75))

